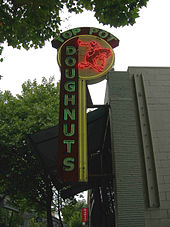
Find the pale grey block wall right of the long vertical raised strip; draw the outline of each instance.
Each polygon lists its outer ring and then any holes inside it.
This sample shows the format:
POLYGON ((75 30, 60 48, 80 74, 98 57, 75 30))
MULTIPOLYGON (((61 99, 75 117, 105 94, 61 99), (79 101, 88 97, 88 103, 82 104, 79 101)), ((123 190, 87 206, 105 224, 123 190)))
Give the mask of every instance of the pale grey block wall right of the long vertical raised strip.
POLYGON ((158 208, 145 207, 146 227, 170 227, 170 68, 130 67, 142 75, 158 182, 158 208))

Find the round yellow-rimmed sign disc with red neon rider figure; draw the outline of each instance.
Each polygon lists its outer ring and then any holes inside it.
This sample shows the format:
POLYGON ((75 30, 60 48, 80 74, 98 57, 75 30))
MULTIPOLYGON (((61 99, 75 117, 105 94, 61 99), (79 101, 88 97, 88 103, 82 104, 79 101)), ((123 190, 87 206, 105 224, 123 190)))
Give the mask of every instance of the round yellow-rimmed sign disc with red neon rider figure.
MULTIPOLYGON (((62 48, 74 43, 78 55, 76 67, 80 79, 88 83, 96 83, 105 78, 107 72, 114 64, 115 55, 108 42, 93 35, 74 36, 64 42, 58 50, 57 60, 61 67, 62 48)), ((70 63, 73 61, 70 57, 70 63)), ((74 62, 72 62, 74 64, 74 62)))

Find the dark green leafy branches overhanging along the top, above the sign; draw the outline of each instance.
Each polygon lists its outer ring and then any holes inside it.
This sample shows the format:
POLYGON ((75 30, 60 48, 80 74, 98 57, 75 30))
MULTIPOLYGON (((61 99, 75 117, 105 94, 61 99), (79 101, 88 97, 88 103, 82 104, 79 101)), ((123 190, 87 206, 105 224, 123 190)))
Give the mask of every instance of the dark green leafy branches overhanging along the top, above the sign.
MULTIPOLYGON (((59 33, 60 11, 91 10, 102 24, 114 27, 133 25, 139 10, 149 0, 1 0, 0 43, 14 48, 42 47, 59 33)), ((0 47, 0 54, 2 53, 0 47)))

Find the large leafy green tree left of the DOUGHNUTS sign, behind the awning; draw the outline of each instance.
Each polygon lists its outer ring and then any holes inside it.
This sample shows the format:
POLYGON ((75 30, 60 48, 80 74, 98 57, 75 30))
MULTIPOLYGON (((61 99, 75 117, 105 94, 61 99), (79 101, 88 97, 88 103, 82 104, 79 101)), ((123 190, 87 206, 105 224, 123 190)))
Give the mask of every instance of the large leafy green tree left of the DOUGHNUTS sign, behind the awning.
POLYGON ((20 209, 51 214, 52 183, 31 152, 27 135, 58 122, 59 83, 27 81, 22 94, 0 92, 0 194, 20 209))

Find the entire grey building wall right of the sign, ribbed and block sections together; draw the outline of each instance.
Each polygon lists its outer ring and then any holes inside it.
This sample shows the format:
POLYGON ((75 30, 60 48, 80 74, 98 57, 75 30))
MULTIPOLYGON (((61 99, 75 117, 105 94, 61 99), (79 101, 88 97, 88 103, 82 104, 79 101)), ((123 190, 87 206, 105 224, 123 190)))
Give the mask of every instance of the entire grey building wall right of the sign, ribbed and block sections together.
POLYGON ((170 68, 108 75, 116 227, 170 226, 170 68))

